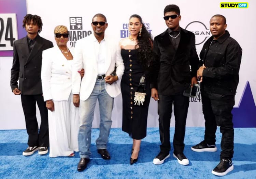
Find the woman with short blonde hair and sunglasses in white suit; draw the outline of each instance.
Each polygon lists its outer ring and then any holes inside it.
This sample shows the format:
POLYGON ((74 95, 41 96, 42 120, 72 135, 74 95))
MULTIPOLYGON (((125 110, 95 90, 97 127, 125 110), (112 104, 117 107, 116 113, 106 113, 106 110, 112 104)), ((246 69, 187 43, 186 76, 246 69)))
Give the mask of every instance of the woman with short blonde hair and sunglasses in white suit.
POLYGON ((78 151, 79 108, 72 98, 73 49, 67 47, 68 29, 54 29, 57 46, 43 51, 42 87, 49 120, 49 156, 74 156, 78 151))

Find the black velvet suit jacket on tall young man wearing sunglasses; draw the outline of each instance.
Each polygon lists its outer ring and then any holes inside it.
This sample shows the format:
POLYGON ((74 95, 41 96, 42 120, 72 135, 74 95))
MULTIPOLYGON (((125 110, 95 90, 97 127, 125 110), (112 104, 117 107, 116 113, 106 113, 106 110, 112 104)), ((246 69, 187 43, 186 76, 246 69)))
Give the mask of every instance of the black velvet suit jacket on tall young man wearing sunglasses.
POLYGON ((159 95, 173 95, 183 92, 196 77, 198 55, 195 35, 181 28, 180 43, 175 50, 168 29, 154 38, 151 88, 157 88, 159 95), (190 68, 191 66, 191 68, 190 68))

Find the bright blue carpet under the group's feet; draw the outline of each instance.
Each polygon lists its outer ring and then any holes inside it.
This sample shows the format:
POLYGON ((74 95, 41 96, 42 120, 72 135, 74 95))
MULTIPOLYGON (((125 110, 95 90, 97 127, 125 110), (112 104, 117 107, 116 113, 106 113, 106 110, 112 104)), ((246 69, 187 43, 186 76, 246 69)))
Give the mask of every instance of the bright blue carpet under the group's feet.
MULTIPOLYGON (((174 128, 171 128, 171 141, 174 128)), ((256 175, 256 128, 234 129, 234 170, 221 177, 246 179, 256 175)), ((143 139, 139 160, 130 165, 132 139, 121 129, 111 129, 108 150, 111 160, 101 159, 97 153, 95 140, 98 129, 93 129, 91 145, 91 161, 83 172, 77 172, 79 153, 75 157, 49 158, 49 155, 24 157, 22 152, 27 148, 26 130, 0 130, 0 178, 219 178, 211 174, 211 170, 219 162, 221 151, 221 134, 216 132, 217 152, 193 152, 191 146, 203 139, 204 128, 186 128, 184 153, 189 165, 178 164, 171 156, 162 165, 154 165, 153 159, 159 152, 158 128, 148 128, 147 137, 143 139)))

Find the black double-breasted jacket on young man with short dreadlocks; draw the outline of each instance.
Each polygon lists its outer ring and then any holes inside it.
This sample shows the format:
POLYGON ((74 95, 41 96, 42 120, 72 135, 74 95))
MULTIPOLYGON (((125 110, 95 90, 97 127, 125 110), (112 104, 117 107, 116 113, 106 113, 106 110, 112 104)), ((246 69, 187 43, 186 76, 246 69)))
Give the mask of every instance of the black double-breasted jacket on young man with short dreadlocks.
POLYGON ((53 43, 51 41, 39 35, 35 38, 31 52, 29 52, 27 36, 14 42, 13 66, 11 69, 12 91, 18 87, 23 95, 42 94, 42 51, 52 47, 53 43))

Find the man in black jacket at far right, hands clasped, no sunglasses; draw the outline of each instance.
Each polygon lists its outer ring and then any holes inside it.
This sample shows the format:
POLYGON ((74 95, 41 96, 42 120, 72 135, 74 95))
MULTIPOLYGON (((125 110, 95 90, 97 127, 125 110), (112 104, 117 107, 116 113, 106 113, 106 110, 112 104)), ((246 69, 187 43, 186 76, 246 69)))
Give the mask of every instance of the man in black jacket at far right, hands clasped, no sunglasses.
POLYGON ((214 175, 224 176, 233 170, 234 129, 232 109, 239 81, 242 49, 230 37, 226 18, 214 15, 210 20, 212 36, 205 42, 200 53, 202 66, 197 71, 201 81, 202 107, 205 119, 204 141, 191 147, 196 152, 215 152, 215 132, 220 126, 221 161, 212 170, 214 175))

